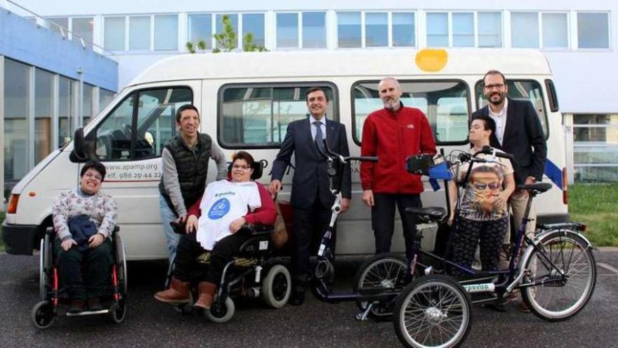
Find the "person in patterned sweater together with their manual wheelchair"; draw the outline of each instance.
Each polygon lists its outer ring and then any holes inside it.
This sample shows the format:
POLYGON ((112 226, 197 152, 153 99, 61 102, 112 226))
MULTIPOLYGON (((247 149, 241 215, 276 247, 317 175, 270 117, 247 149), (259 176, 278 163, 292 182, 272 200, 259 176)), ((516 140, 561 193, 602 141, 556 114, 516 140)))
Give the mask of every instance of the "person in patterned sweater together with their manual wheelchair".
POLYGON ((124 321, 126 262, 116 202, 100 191, 105 172, 100 162, 87 162, 79 186, 53 202, 53 227, 41 240, 41 302, 31 316, 37 328, 51 326, 65 299, 67 316, 110 313, 124 321))

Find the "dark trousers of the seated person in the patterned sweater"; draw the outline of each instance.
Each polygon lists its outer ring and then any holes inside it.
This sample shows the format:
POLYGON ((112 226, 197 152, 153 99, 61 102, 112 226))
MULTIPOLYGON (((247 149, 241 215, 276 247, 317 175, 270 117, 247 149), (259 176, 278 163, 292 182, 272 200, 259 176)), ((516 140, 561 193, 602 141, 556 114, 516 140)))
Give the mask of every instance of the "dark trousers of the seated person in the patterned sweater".
POLYGON ((84 251, 77 249, 75 245, 65 251, 60 246, 60 239, 56 239, 53 244, 56 263, 60 268, 60 279, 70 299, 85 300, 105 295, 110 285, 110 272, 114 262, 112 241, 109 238, 105 238, 98 247, 84 251), (86 268, 82 275, 84 262, 86 268))

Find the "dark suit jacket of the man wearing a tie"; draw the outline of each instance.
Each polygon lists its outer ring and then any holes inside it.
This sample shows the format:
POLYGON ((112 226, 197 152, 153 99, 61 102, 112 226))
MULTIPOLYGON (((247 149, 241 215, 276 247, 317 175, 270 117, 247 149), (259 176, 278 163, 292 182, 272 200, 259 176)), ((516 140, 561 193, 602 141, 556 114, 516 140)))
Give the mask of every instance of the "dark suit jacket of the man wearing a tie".
MULTIPOLYGON (((281 144, 281 149, 275 162, 272 163, 272 180, 281 180, 287 166, 290 165, 292 153, 296 158, 294 178, 292 179, 291 205, 298 208, 312 207, 320 203, 323 207, 331 207, 335 200, 329 191, 329 176, 327 162, 315 148, 311 135, 309 118, 290 122, 287 134, 281 144)), ((350 155, 346 126, 327 119, 326 141, 329 148, 343 156, 350 155)), ((341 195, 351 197, 350 165, 343 168, 341 195)))

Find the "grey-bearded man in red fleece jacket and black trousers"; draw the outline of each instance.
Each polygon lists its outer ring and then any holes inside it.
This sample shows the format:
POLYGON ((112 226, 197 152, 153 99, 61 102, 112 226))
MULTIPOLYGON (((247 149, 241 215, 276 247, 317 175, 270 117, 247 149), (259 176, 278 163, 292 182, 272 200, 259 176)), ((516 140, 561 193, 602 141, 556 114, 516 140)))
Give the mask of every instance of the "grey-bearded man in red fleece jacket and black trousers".
POLYGON ((377 156, 379 162, 362 162, 360 181, 362 201, 372 208, 372 228, 376 254, 390 252, 395 228, 395 205, 399 209, 406 243, 406 255, 416 232, 414 218, 405 214, 407 207, 421 207, 421 176, 409 174, 405 160, 412 155, 434 155, 435 141, 427 117, 416 108, 405 107, 401 86, 393 77, 378 84, 384 108, 369 114, 362 129, 360 153, 377 156))

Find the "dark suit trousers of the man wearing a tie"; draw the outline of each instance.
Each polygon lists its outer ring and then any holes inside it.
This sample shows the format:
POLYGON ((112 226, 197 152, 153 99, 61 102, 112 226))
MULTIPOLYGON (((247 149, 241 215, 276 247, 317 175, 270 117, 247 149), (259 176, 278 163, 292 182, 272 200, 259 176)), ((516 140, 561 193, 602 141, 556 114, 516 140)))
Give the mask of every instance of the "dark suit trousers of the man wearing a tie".
MULTIPOLYGON (((322 235, 331 221, 331 207, 324 207, 316 202, 310 208, 294 207, 292 245, 294 252, 291 257, 292 277, 298 285, 305 285, 311 278, 309 257, 317 254, 322 235)), ((336 227, 336 226, 335 226, 336 227)), ((336 229, 331 236, 331 252, 335 254, 336 229)))

